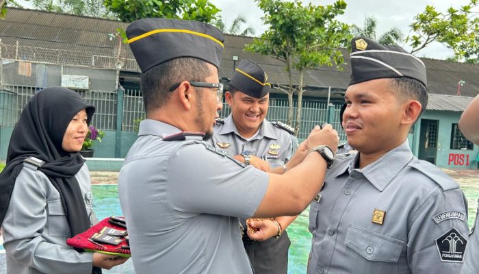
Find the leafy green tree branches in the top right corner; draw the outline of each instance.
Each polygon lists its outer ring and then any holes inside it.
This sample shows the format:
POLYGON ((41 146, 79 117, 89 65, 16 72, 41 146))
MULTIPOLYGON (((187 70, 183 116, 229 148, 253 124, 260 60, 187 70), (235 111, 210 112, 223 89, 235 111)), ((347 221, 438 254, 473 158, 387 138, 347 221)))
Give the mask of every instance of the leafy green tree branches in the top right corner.
POLYGON ((440 42, 454 51, 456 60, 477 60, 478 54, 478 18, 471 8, 478 0, 471 0, 460 10, 449 8, 445 13, 427 5, 424 12, 417 14, 411 24, 411 34, 406 42, 411 42, 411 53, 424 49, 431 42, 440 42))

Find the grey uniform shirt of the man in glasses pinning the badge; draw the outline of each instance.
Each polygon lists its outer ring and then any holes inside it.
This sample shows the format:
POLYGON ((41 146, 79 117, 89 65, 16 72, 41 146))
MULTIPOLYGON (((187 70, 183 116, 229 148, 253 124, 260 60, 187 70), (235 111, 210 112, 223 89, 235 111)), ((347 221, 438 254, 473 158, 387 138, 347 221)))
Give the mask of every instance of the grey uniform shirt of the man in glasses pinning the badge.
POLYGON ((140 123, 118 179, 135 273, 253 273, 237 217, 250 218, 268 175, 179 129, 140 123))

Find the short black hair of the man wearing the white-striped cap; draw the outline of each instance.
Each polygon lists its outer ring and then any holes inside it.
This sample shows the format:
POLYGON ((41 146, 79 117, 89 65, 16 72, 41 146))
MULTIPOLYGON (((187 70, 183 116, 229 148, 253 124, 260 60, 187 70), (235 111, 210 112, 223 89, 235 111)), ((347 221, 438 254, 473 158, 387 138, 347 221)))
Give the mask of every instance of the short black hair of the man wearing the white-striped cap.
POLYGON ((419 116, 426 110, 428 105, 428 88, 426 88, 422 82, 409 77, 398 77, 391 78, 389 86, 395 90, 398 99, 414 99, 419 101, 422 107, 419 116))

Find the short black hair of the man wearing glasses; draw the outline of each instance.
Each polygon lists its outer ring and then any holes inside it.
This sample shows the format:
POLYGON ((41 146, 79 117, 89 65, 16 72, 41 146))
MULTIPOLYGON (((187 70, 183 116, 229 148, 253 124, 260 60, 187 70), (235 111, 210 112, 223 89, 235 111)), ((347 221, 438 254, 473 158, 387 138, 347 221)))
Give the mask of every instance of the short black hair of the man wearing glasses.
POLYGON ((176 58, 148 69, 141 77, 146 116, 170 101, 170 88, 175 84, 183 81, 204 82, 209 75, 207 62, 197 58, 176 58))

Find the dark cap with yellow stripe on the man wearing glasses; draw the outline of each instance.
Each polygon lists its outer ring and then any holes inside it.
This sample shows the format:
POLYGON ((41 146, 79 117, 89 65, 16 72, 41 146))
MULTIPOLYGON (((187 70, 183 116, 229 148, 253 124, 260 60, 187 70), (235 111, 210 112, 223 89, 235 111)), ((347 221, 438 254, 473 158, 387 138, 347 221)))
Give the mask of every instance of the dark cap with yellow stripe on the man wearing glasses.
POLYGON ((128 43, 142 73, 175 58, 198 58, 220 67, 224 36, 196 21, 146 18, 127 27, 128 43))

